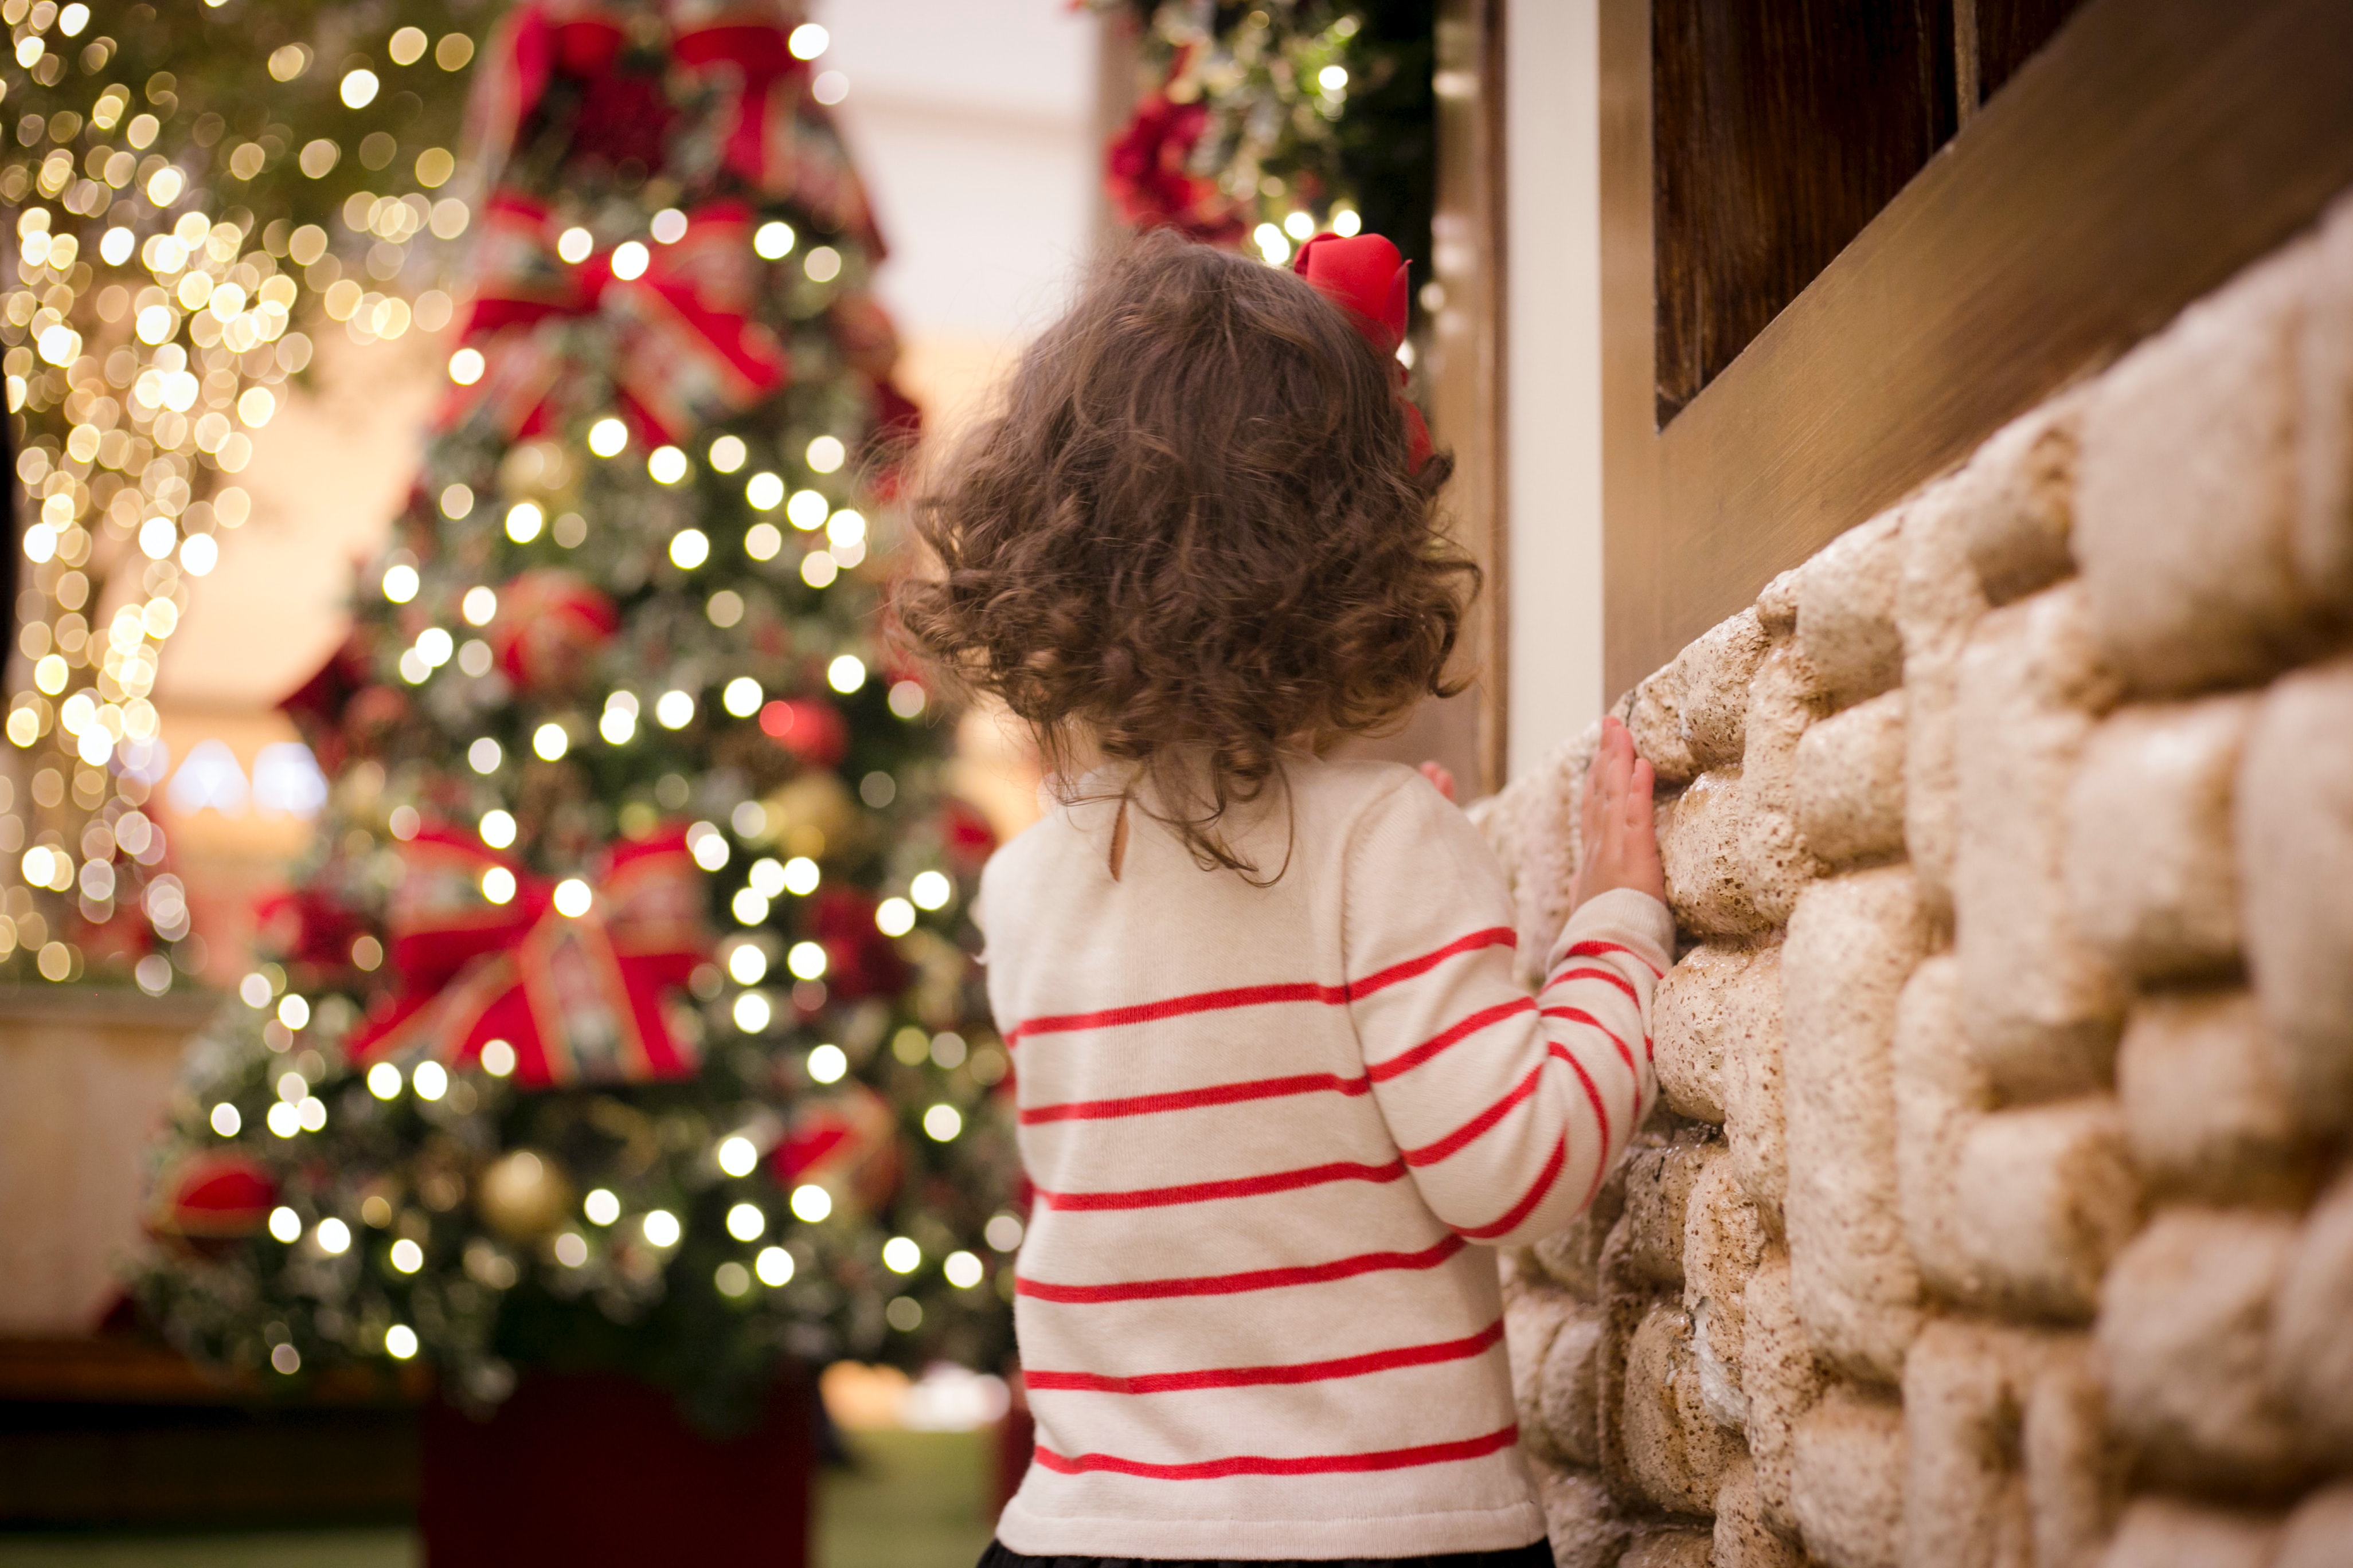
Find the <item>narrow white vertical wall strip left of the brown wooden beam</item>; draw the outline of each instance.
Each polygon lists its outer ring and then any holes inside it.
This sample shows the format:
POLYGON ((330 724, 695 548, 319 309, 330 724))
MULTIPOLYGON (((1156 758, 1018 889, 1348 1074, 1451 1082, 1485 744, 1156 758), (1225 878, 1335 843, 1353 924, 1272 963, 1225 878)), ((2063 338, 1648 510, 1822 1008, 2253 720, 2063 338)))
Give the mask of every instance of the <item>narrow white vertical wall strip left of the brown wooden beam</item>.
POLYGON ((1598 0, 1508 0, 1511 771, 1602 710, 1598 0))

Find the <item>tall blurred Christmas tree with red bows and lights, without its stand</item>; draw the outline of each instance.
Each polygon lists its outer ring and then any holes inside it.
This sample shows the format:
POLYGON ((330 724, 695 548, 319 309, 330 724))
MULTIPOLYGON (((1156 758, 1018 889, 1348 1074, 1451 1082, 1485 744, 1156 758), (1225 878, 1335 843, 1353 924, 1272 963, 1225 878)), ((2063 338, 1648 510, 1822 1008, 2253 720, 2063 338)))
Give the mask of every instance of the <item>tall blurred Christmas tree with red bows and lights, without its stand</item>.
POLYGON ((913 407, 824 47, 525 5, 475 66, 449 402, 158 1150, 136 1288, 191 1354, 616 1366, 725 1425, 781 1356, 1005 1349, 991 835, 875 642, 913 407))

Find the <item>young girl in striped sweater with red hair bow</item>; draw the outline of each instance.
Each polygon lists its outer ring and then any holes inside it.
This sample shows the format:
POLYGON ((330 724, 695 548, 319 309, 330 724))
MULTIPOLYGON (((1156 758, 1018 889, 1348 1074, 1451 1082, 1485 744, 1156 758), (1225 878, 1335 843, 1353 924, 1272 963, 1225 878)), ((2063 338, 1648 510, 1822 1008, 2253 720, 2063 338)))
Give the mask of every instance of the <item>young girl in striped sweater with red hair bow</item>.
POLYGON ((1529 997, 1478 830, 1325 755, 1445 691, 1473 571, 1398 252, 1301 270, 1139 242, 918 503, 906 630, 1059 783, 979 896, 1035 1187, 1038 1450, 986 1568, 1551 1563, 1487 1248, 1574 1220, 1652 1107, 1649 764, 1607 726, 1529 997))

